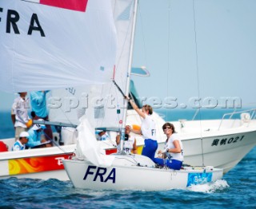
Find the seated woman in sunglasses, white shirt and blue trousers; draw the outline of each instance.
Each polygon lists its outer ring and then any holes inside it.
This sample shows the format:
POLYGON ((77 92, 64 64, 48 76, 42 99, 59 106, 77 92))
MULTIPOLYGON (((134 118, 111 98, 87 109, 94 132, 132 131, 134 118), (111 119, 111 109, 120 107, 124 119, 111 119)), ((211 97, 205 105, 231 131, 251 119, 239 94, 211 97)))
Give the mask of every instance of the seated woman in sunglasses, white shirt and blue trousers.
POLYGON ((182 168, 183 161, 182 141, 175 132, 173 124, 164 124, 162 126, 162 130, 167 136, 166 145, 163 150, 158 151, 158 156, 160 158, 155 158, 154 162, 162 166, 166 164, 167 167, 174 170, 180 170, 182 168))

